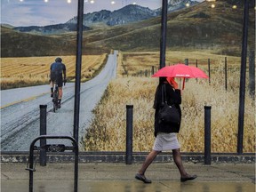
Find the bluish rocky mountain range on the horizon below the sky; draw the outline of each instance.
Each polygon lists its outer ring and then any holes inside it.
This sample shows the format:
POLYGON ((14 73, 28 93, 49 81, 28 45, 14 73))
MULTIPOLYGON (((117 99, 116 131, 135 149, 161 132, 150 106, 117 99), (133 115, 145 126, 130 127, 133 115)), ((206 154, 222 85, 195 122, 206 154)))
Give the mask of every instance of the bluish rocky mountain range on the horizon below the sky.
MULTIPOLYGON (((183 8, 186 8, 186 4, 195 5, 198 4, 198 2, 191 0, 170 0, 170 2, 168 3, 168 12, 175 12, 183 8)), ((90 12, 84 14, 83 29, 90 30, 95 25, 117 26, 138 22, 140 20, 148 20, 150 18, 159 16, 161 12, 161 8, 151 10, 148 7, 142 7, 136 4, 129 4, 114 12, 110 12, 108 10, 101 10, 100 12, 92 13, 90 12)), ((76 23, 77 17, 74 17, 64 24, 56 24, 43 27, 17 27, 13 29, 20 32, 51 35, 63 32, 76 31, 76 23)))

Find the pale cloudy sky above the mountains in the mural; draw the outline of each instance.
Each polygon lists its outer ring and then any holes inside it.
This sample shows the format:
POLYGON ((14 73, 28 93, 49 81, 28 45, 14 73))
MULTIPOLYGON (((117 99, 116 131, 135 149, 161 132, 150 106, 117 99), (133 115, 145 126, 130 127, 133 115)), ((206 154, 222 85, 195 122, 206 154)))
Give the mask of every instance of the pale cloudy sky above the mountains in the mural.
MULTIPOLYGON (((127 4, 157 9, 162 0, 84 0, 84 13, 114 11, 127 4)), ((1 23, 15 27, 60 24, 76 15, 77 0, 1 0, 1 23)))

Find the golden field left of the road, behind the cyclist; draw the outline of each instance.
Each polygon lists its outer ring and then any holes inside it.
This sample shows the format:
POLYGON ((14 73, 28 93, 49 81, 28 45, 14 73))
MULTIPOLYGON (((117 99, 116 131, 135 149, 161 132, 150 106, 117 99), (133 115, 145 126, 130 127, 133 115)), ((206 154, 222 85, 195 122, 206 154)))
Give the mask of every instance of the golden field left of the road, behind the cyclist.
MULTIPOLYGON (((50 66, 56 56, 1 58, 1 89, 16 88, 28 85, 48 84, 50 66)), ((67 68, 68 81, 75 80, 76 56, 61 56, 67 68)), ((81 81, 95 76, 107 60, 107 54, 84 55, 81 81)))

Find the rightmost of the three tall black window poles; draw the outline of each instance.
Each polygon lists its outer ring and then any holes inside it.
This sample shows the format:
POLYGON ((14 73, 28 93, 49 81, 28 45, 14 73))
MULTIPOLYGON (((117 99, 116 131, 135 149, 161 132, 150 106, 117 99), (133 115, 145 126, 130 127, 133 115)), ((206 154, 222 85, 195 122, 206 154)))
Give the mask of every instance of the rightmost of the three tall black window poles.
POLYGON ((248 20, 249 20, 249 0, 244 0, 244 28, 243 44, 241 54, 240 69, 240 90, 239 90, 239 112, 238 112, 238 136, 237 136, 237 154, 243 154, 244 139, 244 98, 245 98, 245 76, 246 76, 246 56, 248 39, 248 20))

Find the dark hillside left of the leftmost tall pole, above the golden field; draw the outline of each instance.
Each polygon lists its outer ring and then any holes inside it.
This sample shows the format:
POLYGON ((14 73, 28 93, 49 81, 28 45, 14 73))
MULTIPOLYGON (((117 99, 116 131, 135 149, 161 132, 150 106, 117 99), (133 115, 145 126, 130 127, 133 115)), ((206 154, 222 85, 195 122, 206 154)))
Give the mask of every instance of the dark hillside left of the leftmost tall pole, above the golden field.
POLYGON ((62 36, 38 36, 1 28, 2 57, 27 57, 76 54, 74 40, 62 36))

